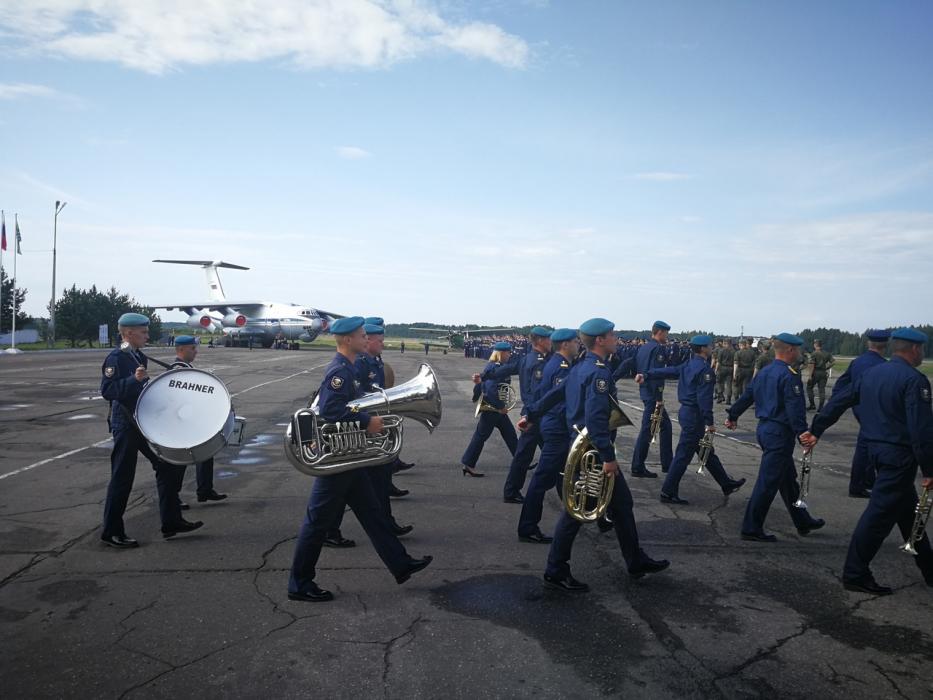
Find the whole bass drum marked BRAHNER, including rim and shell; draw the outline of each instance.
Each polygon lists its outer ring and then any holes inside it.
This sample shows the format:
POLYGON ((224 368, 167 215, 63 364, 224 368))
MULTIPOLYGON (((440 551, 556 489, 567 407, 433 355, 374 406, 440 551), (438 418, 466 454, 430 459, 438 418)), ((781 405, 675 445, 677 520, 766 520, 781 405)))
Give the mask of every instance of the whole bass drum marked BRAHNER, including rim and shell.
POLYGON ((173 369, 152 379, 139 395, 135 418, 152 451, 171 464, 204 462, 235 432, 242 436, 227 387, 200 369, 173 369))

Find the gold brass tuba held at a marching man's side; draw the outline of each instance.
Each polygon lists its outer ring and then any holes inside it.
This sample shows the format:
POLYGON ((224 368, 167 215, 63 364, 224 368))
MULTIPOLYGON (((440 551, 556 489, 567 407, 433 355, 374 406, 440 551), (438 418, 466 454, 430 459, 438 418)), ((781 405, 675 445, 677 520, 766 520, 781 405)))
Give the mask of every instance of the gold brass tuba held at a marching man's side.
MULTIPOLYGON (((619 402, 609 397, 609 429, 615 430, 632 421, 625 415, 619 402)), ((599 451, 593 448, 586 427, 574 426, 577 437, 570 446, 564 465, 564 508, 577 520, 591 523, 598 520, 609 507, 615 481, 603 472, 599 451)))

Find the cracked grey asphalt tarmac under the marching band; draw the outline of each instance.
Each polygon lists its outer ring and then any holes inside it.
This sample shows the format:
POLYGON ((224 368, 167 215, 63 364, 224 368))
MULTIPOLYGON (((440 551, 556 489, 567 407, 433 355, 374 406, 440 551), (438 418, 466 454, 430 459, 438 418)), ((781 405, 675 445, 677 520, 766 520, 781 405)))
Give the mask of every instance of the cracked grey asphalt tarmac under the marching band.
MULTIPOLYGON (((502 502, 509 455, 498 435, 479 463, 486 478, 458 467, 475 425, 470 374, 483 363, 392 352, 399 381, 427 360, 441 384, 441 426, 433 435, 406 426, 402 456, 417 466, 396 476, 411 495, 392 503, 415 526, 405 547, 434 562, 398 586, 348 514, 344 535, 358 546, 325 549, 318 568, 336 599, 309 604, 289 601, 286 584, 312 479, 288 464, 281 438, 330 353, 202 349, 196 365, 227 383, 249 421, 246 444, 216 458, 216 488, 230 497, 198 504, 189 469, 186 517, 205 525, 163 540, 153 471, 140 459, 126 514, 134 550, 99 540, 110 469, 104 355, 0 356, 4 698, 933 694, 933 589, 898 550, 900 535, 874 562, 894 595, 839 582, 866 504, 847 496, 850 416, 814 453, 808 501, 822 530, 799 536, 778 498, 767 528, 779 541, 740 539, 760 454, 749 413, 716 445, 727 471, 749 480, 729 498, 694 469, 680 489, 688 506, 661 504, 660 479, 628 479, 642 546, 670 569, 633 581, 614 535, 585 527, 572 564, 592 591, 568 596, 542 589, 547 546, 517 539, 521 506, 502 502)), ((633 383, 619 393, 641 406, 633 383)), ((674 433, 676 445, 676 423, 674 433)), ((626 474, 634 435, 626 428, 618 440, 626 474)), ((548 494, 542 529, 558 513, 548 494)))

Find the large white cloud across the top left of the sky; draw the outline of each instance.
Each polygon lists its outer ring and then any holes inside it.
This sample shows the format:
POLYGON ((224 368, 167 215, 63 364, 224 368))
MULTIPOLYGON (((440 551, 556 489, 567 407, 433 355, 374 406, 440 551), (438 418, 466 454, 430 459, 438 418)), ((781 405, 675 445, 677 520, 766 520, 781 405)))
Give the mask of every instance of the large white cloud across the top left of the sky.
POLYGON ((0 3, 0 47, 148 73, 285 60, 380 68, 428 51, 523 67, 528 44, 497 25, 445 20, 428 0, 30 0, 0 3))

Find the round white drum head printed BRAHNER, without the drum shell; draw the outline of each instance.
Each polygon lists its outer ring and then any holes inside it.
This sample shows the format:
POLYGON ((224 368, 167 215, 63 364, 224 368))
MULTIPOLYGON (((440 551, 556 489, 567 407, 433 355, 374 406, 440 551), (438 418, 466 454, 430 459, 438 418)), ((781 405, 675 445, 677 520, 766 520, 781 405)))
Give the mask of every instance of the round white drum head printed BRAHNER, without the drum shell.
POLYGON ((136 405, 136 423, 149 442, 166 448, 191 448, 224 429, 230 405, 227 387, 210 372, 173 369, 143 389, 136 405))

